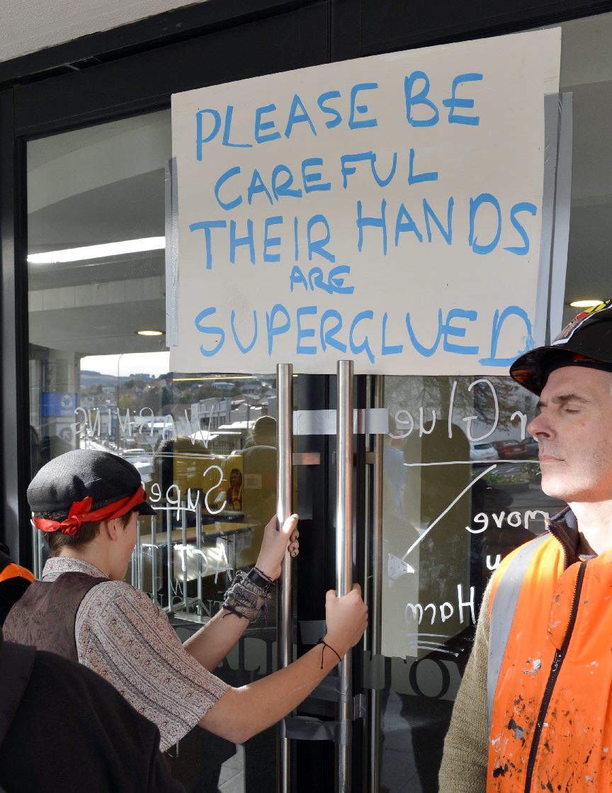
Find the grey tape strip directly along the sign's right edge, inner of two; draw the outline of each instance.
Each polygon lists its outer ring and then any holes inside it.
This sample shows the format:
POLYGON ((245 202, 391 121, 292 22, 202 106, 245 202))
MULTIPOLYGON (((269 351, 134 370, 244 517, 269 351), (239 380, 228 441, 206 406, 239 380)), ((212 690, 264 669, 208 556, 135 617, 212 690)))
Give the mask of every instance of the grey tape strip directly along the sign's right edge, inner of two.
POLYGON ((540 266, 537 270, 536 321, 534 347, 548 344, 550 271, 553 255, 555 181, 559 144, 559 94, 544 97, 544 179, 542 184, 542 217, 540 266))

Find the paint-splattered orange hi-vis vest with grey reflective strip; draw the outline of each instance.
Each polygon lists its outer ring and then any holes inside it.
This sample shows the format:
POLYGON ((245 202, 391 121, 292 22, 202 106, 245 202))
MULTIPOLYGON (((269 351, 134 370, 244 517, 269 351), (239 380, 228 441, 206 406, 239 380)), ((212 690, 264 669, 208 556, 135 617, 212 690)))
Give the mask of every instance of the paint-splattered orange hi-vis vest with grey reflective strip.
POLYGON ((612 790, 612 550, 564 569, 547 534, 504 559, 492 587, 494 653, 495 600, 516 603, 490 698, 488 793, 612 790))

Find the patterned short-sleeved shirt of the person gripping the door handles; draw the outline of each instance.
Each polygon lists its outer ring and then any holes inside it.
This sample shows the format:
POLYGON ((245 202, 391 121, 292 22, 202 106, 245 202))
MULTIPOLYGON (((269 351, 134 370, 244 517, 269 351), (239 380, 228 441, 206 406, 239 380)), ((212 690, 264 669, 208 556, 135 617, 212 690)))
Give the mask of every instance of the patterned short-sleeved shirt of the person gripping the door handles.
MULTIPOLYGON (((44 565, 42 580, 70 572, 105 578, 82 559, 54 557, 44 565)), ((124 581, 109 579, 87 592, 78 607, 75 640, 80 663, 158 726, 162 750, 186 735, 229 688, 186 652, 149 596, 124 581)))

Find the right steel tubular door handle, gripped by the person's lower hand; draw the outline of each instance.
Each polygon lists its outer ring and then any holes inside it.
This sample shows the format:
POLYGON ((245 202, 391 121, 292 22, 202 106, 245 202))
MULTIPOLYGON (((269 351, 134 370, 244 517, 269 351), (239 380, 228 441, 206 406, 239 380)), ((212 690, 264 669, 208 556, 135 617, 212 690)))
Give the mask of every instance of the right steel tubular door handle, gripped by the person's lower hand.
MULTIPOLYGON (((339 597, 353 588, 353 362, 337 364, 338 441, 336 453, 336 592, 339 597)), ((341 724, 336 745, 336 793, 350 791, 350 730, 352 728, 351 653, 340 661, 341 700, 337 706, 341 724)))

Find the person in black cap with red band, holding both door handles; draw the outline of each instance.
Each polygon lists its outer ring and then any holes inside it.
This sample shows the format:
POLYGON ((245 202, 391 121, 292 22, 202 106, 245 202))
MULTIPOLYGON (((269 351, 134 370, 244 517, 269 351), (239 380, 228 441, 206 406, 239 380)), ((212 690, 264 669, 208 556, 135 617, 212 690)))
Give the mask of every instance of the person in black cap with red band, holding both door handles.
POLYGON ((281 574, 297 515, 266 527, 257 565, 236 573, 223 607, 182 645, 166 614, 122 580, 136 544, 136 519, 153 509, 137 469, 93 450, 62 454, 28 488, 33 523, 52 557, 4 624, 12 642, 78 660, 113 684, 159 727, 167 749, 195 725, 242 743, 293 710, 361 638, 367 610, 358 585, 338 598, 327 592, 327 634, 293 664, 243 688, 212 674, 252 619, 261 614, 281 574))

